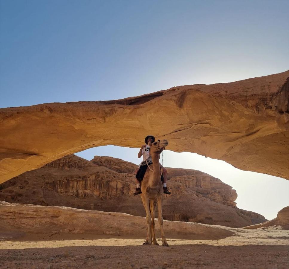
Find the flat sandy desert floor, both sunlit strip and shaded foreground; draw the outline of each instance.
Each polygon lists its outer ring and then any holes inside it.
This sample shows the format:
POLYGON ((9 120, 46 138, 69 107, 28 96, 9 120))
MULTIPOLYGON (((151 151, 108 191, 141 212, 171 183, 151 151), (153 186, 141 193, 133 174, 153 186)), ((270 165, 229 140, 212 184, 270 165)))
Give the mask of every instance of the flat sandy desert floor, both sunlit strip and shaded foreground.
POLYGON ((289 268, 289 231, 255 231, 220 240, 168 239, 169 247, 143 246, 143 239, 30 236, 0 242, 0 268, 289 268))

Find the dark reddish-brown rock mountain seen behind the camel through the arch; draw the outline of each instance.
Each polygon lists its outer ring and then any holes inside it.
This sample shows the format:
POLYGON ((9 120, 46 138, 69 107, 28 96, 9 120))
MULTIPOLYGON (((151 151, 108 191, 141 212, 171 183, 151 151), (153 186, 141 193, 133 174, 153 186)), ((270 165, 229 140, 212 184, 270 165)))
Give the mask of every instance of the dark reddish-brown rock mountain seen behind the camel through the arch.
MULTIPOLYGON (((95 156, 87 161, 69 155, 4 182, 0 200, 144 216, 140 196, 132 195, 136 168, 134 163, 112 157, 95 156)), ((238 209, 236 191, 218 178, 191 169, 167 171, 172 195, 164 198, 165 219, 228 227, 266 221, 262 215, 238 209)))

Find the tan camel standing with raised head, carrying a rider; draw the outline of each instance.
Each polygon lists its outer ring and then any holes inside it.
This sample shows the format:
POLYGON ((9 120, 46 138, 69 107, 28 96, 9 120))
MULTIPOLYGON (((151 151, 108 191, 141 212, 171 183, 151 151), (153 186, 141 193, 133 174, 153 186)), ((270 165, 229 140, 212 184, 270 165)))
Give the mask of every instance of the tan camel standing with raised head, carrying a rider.
POLYGON ((168 247, 169 244, 166 242, 165 233, 163 232, 163 184, 160 181, 160 153, 164 147, 169 144, 167 140, 158 140, 154 143, 149 142, 150 154, 152 156, 152 164, 149 165, 141 183, 141 199, 143 206, 146 210, 146 223, 148 225, 148 231, 146 235, 146 245, 158 245, 155 239, 155 209, 158 201, 158 221, 160 224, 160 232, 162 236, 162 246, 168 247))

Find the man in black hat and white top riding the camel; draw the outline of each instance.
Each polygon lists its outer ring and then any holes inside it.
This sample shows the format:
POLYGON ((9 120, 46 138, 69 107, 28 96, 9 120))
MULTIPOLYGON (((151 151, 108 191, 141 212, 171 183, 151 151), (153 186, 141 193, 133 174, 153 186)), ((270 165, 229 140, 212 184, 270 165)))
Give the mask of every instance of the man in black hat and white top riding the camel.
MULTIPOLYGON (((138 168, 134 171, 135 181, 137 184, 137 188, 134 192, 134 196, 141 193, 140 181, 143 179, 146 168, 148 167, 149 164, 152 163, 152 158, 150 155, 150 146, 148 145, 149 142, 154 143, 155 137, 152 135, 148 135, 145 138, 146 144, 141 146, 140 151, 137 154, 137 158, 140 158, 141 156, 143 156, 143 161, 140 163, 138 168)), ((160 156, 159 156, 159 158, 160 158, 160 156)), ((167 181, 166 169, 162 165, 160 165, 160 168, 163 169, 163 193, 171 194, 169 192, 168 188, 166 187, 166 181, 167 181)))

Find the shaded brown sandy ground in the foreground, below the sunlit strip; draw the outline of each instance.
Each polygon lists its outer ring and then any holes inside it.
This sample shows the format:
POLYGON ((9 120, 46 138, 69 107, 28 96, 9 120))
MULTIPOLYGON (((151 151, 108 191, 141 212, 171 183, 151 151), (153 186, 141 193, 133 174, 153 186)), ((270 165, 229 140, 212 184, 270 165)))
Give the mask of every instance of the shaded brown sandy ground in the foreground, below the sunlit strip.
MULTIPOLYGON (((129 242, 128 242, 129 243, 129 242)), ((288 268, 288 245, 58 246, 0 250, 1 268, 288 268)), ((182 242, 178 242, 182 243, 182 242)), ((184 243, 184 242, 183 242, 184 243)), ((60 245, 63 245, 60 244, 60 245)), ((32 246, 32 244, 30 245, 32 246)))

